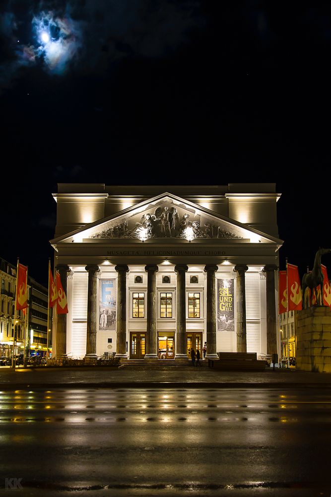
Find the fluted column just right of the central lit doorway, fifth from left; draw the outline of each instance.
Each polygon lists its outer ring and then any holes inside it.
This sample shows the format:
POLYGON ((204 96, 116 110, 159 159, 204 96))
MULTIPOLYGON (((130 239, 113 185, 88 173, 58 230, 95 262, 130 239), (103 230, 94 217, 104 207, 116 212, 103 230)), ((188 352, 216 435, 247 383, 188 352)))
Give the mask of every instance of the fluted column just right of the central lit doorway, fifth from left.
POLYGON ((177 264, 177 331, 176 331, 176 357, 187 357, 186 353, 186 290, 185 273, 186 264, 177 264))

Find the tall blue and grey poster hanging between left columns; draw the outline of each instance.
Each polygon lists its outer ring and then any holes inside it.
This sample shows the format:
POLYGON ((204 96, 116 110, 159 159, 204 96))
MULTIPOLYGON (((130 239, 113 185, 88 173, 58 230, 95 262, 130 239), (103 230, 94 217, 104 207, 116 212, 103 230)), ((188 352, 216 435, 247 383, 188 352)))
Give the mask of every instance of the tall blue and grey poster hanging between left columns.
POLYGON ((116 280, 100 279, 99 330, 115 330, 116 280))

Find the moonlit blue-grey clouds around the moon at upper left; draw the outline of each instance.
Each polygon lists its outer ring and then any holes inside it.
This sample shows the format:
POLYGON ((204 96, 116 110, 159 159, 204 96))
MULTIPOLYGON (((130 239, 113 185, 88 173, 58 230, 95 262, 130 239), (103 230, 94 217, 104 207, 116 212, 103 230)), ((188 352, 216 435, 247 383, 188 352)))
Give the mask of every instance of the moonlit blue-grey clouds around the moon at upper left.
MULTIPOLYGON (((7 1, 2 84, 39 65, 50 75, 103 72, 125 57, 160 57, 201 25, 198 0, 7 1)), ((202 22, 203 23, 203 22, 202 22)))

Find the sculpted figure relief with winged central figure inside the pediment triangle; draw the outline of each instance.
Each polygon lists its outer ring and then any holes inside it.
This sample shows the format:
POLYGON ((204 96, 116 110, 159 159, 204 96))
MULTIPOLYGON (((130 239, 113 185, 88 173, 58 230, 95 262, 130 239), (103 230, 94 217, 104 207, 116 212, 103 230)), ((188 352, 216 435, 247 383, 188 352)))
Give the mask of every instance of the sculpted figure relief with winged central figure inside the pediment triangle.
POLYGON ((92 239, 139 239, 180 238, 242 239, 221 220, 208 216, 184 204, 164 200, 149 206, 145 211, 132 213, 110 221, 95 231, 92 239))

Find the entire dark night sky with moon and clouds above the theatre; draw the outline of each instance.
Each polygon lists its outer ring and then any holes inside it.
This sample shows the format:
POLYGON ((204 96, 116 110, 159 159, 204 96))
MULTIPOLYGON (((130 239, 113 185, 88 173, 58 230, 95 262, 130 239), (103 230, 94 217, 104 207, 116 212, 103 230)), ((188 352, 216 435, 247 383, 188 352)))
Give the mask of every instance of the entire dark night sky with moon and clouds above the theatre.
POLYGON ((331 247, 329 7, 0 8, 2 258, 47 285, 62 182, 274 182, 280 269, 331 247))

